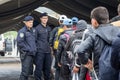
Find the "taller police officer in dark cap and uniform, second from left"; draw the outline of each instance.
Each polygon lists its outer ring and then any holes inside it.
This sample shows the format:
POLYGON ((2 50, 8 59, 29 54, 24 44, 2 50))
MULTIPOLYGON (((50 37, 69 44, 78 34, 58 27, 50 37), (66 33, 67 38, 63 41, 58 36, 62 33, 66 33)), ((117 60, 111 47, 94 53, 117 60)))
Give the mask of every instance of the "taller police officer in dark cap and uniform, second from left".
POLYGON ((52 57, 48 41, 51 28, 47 25, 47 13, 42 13, 40 20, 41 24, 36 27, 37 54, 35 58, 35 80, 42 80, 42 73, 44 80, 50 80, 52 57))

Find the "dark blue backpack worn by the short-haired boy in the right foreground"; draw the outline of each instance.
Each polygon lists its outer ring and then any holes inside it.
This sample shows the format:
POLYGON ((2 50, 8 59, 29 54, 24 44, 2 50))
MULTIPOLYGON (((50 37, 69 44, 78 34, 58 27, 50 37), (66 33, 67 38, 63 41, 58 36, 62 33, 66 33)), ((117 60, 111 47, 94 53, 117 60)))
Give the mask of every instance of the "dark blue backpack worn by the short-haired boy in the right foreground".
POLYGON ((105 41, 105 46, 99 58, 99 80, 117 80, 118 78, 117 71, 111 66, 110 63, 111 54, 112 46, 105 41))

